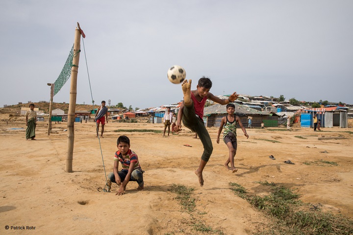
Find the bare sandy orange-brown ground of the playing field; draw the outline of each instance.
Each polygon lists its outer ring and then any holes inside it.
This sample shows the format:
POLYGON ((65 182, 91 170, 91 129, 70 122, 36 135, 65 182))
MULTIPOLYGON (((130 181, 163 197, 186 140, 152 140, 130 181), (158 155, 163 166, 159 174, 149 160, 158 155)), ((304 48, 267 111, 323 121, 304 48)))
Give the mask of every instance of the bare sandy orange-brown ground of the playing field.
POLYGON ((25 128, 25 122, 0 122, 0 234, 198 234, 190 232, 194 218, 224 234, 242 235, 270 222, 236 196, 229 182, 259 195, 267 192, 256 181, 282 183, 302 194, 304 202, 320 203, 323 210, 353 217, 353 135, 344 132, 353 128, 323 128, 324 132, 300 127, 293 131, 247 129, 248 140, 238 130, 236 173, 223 165, 228 150, 223 142, 216 143, 218 128, 209 128, 214 151, 204 169, 203 187, 194 174, 202 144, 188 130, 163 138, 152 132, 114 132, 162 130, 162 124, 109 122, 99 140, 93 122, 75 123, 74 172, 66 173, 68 140, 63 130, 67 123, 53 124, 48 136, 46 123, 39 122, 37 141, 25 141, 25 129, 16 128, 25 128), (144 191, 137 191, 137 183, 130 182, 122 196, 115 195, 116 185, 112 192, 103 192, 119 135, 130 138, 131 149, 146 171, 144 191), (319 141, 322 135, 346 139, 319 141), (295 164, 285 164, 286 160, 295 164), (303 164, 321 160, 338 165, 303 164), (176 194, 170 191, 173 183, 195 188, 199 213, 181 212, 176 194), (25 230, 6 230, 6 225, 25 230))

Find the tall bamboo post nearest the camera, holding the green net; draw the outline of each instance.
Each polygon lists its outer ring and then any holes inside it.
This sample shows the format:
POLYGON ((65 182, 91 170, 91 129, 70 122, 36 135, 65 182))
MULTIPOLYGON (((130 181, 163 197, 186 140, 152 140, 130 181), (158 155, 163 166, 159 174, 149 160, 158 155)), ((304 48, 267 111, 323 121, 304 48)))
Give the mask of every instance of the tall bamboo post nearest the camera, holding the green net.
MULTIPOLYGON (((79 24, 77 23, 79 27, 79 24)), ((68 147, 66 155, 66 172, 71 173, 73 154, 74 154, 74 123, 75 123, 75 108, 76 108, 76 94, 77 94, 77 72, 80 52, 81 33, 80 28, 75 30, 75 43, 74 43, 74 58, 73 66, 71 68, 71 84, 70 84, 70 103, 68 113, 68 147)))

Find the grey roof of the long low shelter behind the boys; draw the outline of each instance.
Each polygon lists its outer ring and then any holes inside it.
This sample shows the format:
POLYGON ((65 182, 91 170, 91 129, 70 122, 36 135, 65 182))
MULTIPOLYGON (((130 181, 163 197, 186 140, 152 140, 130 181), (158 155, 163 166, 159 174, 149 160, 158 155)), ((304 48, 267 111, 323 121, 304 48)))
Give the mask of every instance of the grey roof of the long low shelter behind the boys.
MULTIPOLYGON (((235 105, 235 113, 238 116, 248 116, 248 115, 269 115, 270 113, 267 111, 258 111, 256 109, 252 109, 246 105, 233 103, 235 105)), ((209 116, 211 114, 227 114, 227 105, 214 104, 203 109, 203 114, 205 116, 209 116)))

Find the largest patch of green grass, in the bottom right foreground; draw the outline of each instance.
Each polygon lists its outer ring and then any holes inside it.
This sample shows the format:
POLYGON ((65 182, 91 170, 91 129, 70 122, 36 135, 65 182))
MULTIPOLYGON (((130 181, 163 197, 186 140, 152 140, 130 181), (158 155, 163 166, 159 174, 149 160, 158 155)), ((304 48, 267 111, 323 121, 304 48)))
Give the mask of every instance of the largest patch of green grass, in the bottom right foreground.
POLYGON ((349 235, 353 234, 353 220, 329 212, 310 211, 310 205, 298 200, 300 194, 271 182, 257 182, 269 186, 266 196, 248 195, 244 187, 230 183, 231 189, 241 188, 244 198, 255 208, 273 216, 275 226, 254 235, 349 235))

